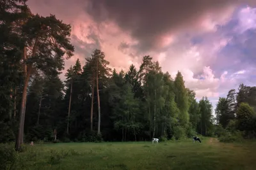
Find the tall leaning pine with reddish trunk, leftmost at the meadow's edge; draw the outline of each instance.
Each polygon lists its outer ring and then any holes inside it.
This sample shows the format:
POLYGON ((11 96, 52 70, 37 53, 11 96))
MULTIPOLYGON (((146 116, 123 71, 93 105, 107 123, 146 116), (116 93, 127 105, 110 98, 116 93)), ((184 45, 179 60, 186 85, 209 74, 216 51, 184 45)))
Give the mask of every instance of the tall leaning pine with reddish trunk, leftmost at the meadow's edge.
POLYGON ((28 82, 35 69, 52 74, 63 69, 63 55, 72 57, 74 46, 70 44, 70 25, 56 19, 54 15, 41 17, 31 15, 24 25, 22 34, 25 40, 23 53, 24 85, 20 105, 19 133, 15 149, 19 150, 24 138, 24 120, 28 82))

